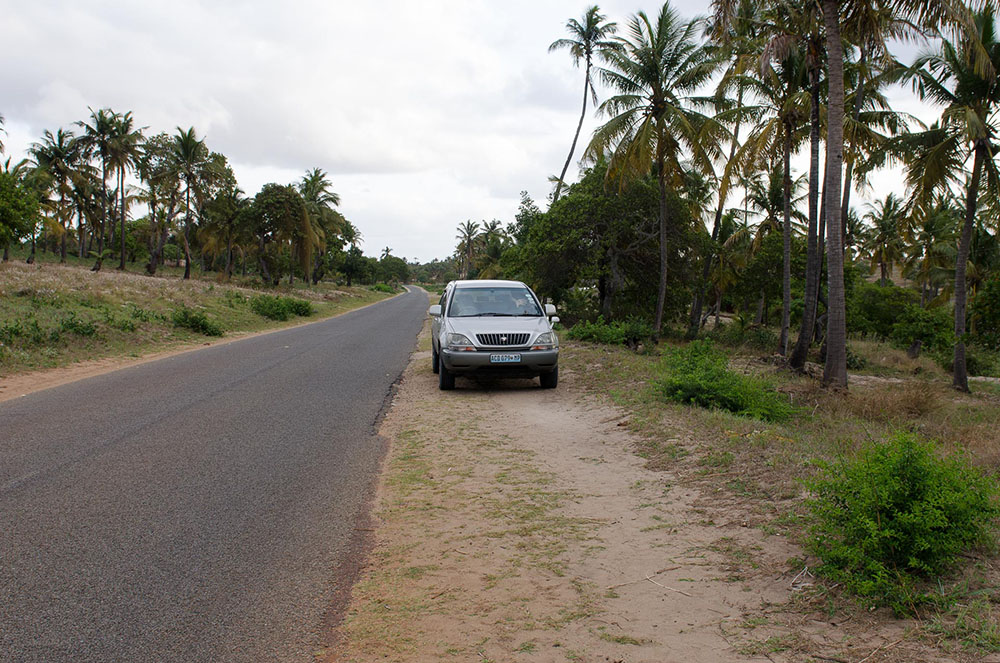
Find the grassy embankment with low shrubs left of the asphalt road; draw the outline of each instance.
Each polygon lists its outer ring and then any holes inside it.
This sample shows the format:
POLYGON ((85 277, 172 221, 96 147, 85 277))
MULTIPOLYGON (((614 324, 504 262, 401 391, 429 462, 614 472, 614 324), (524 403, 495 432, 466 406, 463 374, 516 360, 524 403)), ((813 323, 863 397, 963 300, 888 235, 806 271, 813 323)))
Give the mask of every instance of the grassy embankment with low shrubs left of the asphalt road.
POLYGON ((144 275, 140 265, 119 272, 106 264, 94 273, 92 260, 71 258, 66 265, 56 260, 38 254, 34 265, 23 259, 0 263, 0 377, 277 329, 391 296, 367 287, 310 287, 301 281, 261 289, 249 279, 223 283, 214 274, 184 281, 182 267, 156 277, 144 275))

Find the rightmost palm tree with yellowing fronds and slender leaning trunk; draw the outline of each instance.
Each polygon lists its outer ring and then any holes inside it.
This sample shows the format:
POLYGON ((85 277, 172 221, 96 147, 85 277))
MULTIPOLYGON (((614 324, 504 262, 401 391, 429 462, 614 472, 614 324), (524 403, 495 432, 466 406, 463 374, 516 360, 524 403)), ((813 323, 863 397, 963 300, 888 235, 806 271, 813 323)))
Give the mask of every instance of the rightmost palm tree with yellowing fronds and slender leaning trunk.
POLYGON ((965 318, 968 302, 966 271, 979 200, 979 189, 995 199, 1000 195, 1000 169, 994 159, 993 136, 1000 131, 1000 40, 994 9, 987 7, 973 18, 974 32, 962 36, 956 45, 944 39, 940 50, 919 56, 909 76, 921 99, 945 107, 940 126, 913 137, 907 180, 913 200, 919 205, 933 192, 955 184, 972 158, 972 172, 966 180, 965 218, 955 262, 955 361, 952 386, 969 390, 965 365, 965 318), (981 58, 988 65, 983 69, 981 58), (989 71, 991 73, 983 73, 989 71))

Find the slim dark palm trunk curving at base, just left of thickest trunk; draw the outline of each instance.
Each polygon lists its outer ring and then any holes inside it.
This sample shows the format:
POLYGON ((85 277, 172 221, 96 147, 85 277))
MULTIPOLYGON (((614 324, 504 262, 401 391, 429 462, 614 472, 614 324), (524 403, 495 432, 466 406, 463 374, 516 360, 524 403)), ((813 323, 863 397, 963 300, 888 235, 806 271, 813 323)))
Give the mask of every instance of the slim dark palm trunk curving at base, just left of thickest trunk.
POLYGON ((813 67, 812 78, 812 109, 809 118, 809 235, 806 238, 806 292, 802 307, 802 325, 799 327, 799 339, 795 343, 789 364, 792 368, 805 368, 809 356, 809 346, 816 327, 816 295, 819 292, 820 255, 816 226, 819 221, 819 69, 813 67))

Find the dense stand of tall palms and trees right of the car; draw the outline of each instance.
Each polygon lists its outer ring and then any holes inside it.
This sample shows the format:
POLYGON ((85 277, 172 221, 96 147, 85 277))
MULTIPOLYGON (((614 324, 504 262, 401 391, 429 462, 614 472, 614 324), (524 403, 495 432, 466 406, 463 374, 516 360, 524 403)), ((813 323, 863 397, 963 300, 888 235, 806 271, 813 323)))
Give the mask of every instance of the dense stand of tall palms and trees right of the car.
POLYGON ((834 387, 849 332, 944 345, 967 390, 969 344, 995 349, 1000 326, 995 0, 712 7, 684 21, 666 3, 623 27, 591 7, 567 23, 552 49, 583 65, 584 116, 595 82, 608 94, 586 169, 568 186, 563 170, 545 211, 523 194, 505 228, 459 226, 455 271, 522 278, 570 320, 639 317, 688 338, 723 313, 770 323, 774 350, 797 368, 820 352, 834 387), (901 37, 928 47, 900 62, 901 37), (940 119, 892 108, 895 83, 940 119), (852 201, 891 166, 905 195, 852 201))

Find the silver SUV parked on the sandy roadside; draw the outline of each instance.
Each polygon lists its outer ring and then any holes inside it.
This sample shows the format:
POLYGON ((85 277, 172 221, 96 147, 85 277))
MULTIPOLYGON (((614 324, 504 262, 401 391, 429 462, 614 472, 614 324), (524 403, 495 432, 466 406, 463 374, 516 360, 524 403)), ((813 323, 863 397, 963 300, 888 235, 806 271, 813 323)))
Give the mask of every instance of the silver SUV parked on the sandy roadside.
POLYGON ((452 281, 430 307, 432 366, 441 389, 456 375, 538 376, 559 382, 556 308, 520 281, 452 281))

